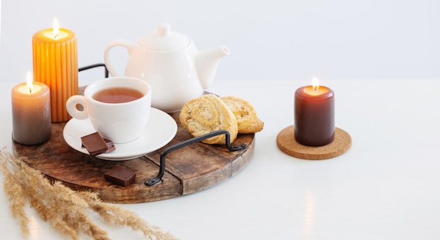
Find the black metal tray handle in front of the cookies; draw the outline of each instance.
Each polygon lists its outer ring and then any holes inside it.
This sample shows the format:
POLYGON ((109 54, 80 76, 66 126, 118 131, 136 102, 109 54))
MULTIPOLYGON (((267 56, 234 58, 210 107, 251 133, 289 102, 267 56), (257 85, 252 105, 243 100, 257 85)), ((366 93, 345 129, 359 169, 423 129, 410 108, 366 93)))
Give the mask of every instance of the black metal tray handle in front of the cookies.
POLYGON ((201 140, 205 140, 207 138, 212 138, 216 135, 221 135, 221 134, 226 135, 226 147, 228 147, 229 152, 235 152, 235 151, 238 151, 241 149, 245 149, 247 147, 247 145, 245 145, 245 144, 235 145, 235 146, 231 147, 231 134, 229 133, 229 131, 226 131, 226 130, 214 131, 212 133, 207 133, 205 135, 201 135, 196 138, 191 138, 186 141, 179 142, 176 145, 172 145, 170 147, 167 147, 166 149, 164 149, 164 152, 162 152, 160 154, 159 174, 157 174, 157 177, 155 177, 155 178, 152 178, 150 180, 146 180, 145 185, 153 186, 157 182, 162 180, 162 177, 164 176, 164 173, 165 173, 165 156, 167 156, 167 154, 169 154, 170 152, 173 152, 174 150, 179 149, 181 147, 185 147, 185 146, 188 146, 188 145, 193 144, 195 142, 200 142, 201 140))

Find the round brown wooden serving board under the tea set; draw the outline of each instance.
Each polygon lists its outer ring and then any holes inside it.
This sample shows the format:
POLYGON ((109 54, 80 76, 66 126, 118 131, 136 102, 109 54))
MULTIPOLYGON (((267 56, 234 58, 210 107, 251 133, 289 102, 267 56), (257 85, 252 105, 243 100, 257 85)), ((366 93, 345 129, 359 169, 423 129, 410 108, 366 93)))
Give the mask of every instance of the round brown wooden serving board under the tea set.
POLYGON ((246 144, 246 149, 229 152, 225 145, 207 145, 197 142, 166 157, 166 172, 162 181, 146 186, 145 180, 159 172, 160 153, 171 145, 192 136, 182 128, 179 112, 170 114, 177 123, 174 139, 155 152, 127 161, 108 161, 72 149, 63 138, 65 123, 52 124, 51 139, 36 146, 14 142, 15 154, 24 156, 27 164, 44 173, 51 180, 60 180, 72 189, 97 192, 101 200, 112 203, 134 204, 170 199, 198 192, 216 185, 244 168, 254 151, 254 134, 238 135, 233 145, 246 144), (136 181, 120 187, 108 182, 103 175, 114 166, 136 171, 136 181))

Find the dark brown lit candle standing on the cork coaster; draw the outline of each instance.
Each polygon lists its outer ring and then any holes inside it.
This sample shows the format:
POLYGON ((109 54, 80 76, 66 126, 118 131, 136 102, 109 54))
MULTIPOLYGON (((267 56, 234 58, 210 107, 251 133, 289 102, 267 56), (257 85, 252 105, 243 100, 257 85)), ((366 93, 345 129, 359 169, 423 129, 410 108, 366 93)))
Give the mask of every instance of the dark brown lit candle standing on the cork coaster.
POLYGON ((295 140, 318 147, 335 138, 335 94, 313 79, 312 86, 295 91, 295 140))

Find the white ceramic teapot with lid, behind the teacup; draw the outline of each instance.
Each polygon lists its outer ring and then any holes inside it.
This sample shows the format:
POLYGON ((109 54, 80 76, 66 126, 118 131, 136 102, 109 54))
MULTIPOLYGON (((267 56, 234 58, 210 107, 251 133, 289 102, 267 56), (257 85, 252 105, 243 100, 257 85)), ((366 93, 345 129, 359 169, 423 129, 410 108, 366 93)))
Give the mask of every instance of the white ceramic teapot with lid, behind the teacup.
POLYGON ((151 106, 164 112, 177 112, 202 95, 221 58, 229 55, 226 46, 198 51, 190 37, 172 32, 170 25, 163 23, 157 32, 141 36, 135 44, 122 39, 108 44, 104 61, 112 76, 120 76, 110 63, 114 46, 123 46, 129 53, 124 75, 147 81, 153 91, 151 106))

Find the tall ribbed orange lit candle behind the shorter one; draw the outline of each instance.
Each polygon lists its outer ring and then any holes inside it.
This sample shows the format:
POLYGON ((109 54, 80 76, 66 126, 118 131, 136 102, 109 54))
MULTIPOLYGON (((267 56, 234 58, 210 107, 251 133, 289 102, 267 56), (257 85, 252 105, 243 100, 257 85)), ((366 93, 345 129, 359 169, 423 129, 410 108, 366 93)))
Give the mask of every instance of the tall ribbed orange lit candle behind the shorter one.
POLYGON ((34 80, 51 89, 51 121, 70 119, 65 103, 78 94, 77 36, 58 27, 43 29, 32 36, 34 80))

